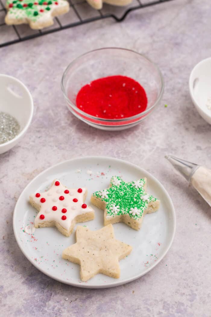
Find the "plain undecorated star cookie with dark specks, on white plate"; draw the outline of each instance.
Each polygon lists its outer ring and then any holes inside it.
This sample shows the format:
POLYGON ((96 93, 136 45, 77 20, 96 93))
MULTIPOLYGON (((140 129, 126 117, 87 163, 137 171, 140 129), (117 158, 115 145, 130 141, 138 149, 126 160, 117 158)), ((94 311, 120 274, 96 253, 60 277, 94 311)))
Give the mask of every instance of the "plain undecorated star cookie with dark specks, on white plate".
POLYGON ((78 226, 76 241, 63 251, 62 257, 81 266, 82 281, 98 273, 120 277, 119 260, 130 254, 132 247, 115 239, 112 224, 97 231, 78 226))

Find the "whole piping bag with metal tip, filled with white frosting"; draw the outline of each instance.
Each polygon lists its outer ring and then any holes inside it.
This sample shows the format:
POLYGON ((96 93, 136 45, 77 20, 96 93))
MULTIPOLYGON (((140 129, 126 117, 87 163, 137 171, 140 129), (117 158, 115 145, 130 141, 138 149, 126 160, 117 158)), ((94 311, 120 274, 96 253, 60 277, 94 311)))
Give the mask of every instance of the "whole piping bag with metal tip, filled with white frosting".
POLYGON ((165 158, 211 206, 211 170, 173 155, 166 155, 165 158))

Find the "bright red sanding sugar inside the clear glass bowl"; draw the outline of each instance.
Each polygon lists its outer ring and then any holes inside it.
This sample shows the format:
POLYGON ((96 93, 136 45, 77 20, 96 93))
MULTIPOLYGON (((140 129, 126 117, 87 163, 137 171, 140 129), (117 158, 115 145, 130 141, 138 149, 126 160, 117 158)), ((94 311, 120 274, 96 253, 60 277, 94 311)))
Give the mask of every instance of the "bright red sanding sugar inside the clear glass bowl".
POLYGON ((123 119, 146 110, 144 88, 126 76, 109 76, 83 86, 76 97, 77 107, 92 116, 123 119))

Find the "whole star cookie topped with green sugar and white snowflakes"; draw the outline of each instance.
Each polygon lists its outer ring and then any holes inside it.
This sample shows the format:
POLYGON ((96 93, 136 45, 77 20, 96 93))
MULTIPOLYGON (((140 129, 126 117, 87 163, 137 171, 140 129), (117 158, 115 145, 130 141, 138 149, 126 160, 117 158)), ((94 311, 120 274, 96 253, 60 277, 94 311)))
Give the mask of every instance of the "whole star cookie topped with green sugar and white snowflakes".
POLYGON ((104 225, 124 222, 139 230, 146 213, 157 211, 160 201, 146 192, 146 178, 124 182, 120 177, 111 178, 110 187, 96 191, 92 204, 104 211, 104 225))

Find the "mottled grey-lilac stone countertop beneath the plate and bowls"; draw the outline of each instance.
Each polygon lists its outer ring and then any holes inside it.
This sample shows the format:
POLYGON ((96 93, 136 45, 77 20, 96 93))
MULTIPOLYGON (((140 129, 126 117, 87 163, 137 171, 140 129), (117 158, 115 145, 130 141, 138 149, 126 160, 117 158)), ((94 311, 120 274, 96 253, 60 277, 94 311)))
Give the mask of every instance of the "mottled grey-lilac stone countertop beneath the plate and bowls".
POLYGON ((107 19, 0 50, 1 73, 23 81, 34 99, 28 132, 0 155, 2 316, 211 316, 211 209, 164 159, 172 153, 211 168, 211 126, 195 110, 188 88, 191 69, 211 55, 210 12, 210 0, 175 0, 134 11, 120 24, 107 19), (165 80, 153 115, 116 133, 73 117, 60 89, 72 59, 105 46, 146 54, 165 80), (29 181, 58 162, 92 154, 126 159, 152 173, 177 215, 164 260, 140 279, 110 289, 75 288, 42 274, 20 251, 12 228, 16 200, 29 181))

